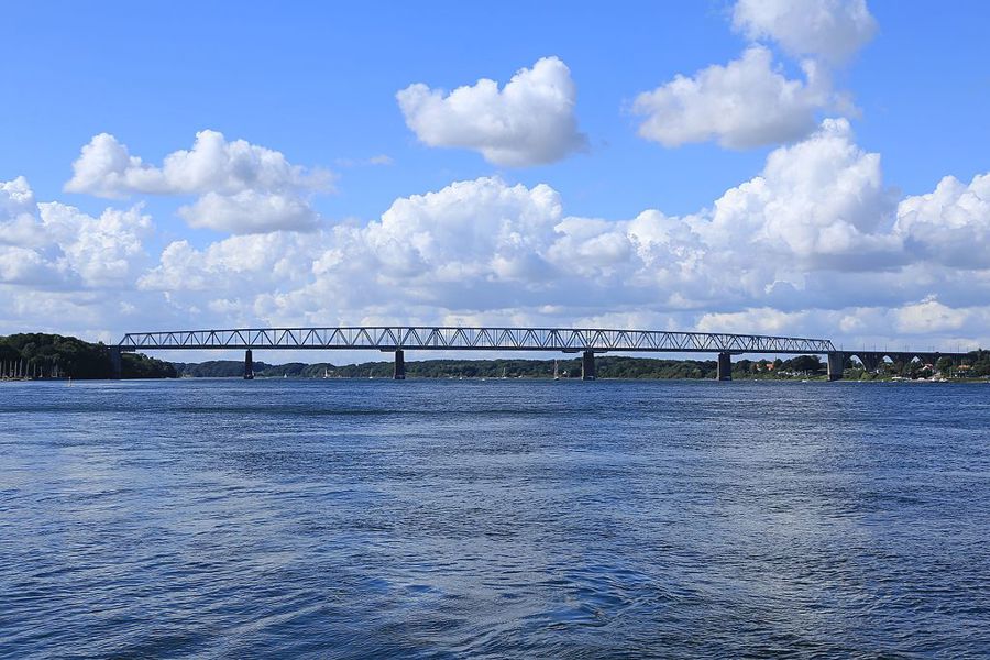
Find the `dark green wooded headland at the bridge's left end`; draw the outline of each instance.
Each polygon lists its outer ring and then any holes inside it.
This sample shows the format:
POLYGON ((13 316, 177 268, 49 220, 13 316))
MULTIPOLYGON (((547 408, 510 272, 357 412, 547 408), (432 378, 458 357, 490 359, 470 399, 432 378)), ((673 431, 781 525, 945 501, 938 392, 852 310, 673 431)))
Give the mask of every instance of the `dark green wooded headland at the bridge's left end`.
MULTIPOLYGON (((140 353, 124 353, 124 378, 174 378, 168 362, 140 353)), ((110 378, 110 350, 75 337, 40 332, 0 337, 0 377, 21 378, 110 378)))

